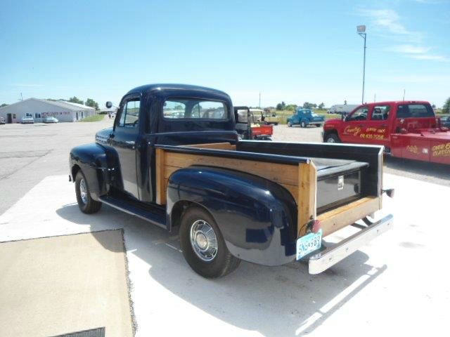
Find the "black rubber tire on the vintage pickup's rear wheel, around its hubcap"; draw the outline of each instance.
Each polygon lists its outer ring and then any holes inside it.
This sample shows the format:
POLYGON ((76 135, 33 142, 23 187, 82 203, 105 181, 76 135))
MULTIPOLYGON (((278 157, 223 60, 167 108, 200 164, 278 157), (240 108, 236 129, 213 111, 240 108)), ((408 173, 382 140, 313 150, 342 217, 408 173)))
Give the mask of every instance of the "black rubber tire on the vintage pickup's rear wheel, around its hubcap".
MULTIPOLYGON (((186 262, 198 275, 207 279, 225 276, 233 272, 233 270, 236 270, 240 263, 240 259, 232 256, 226 248, 224 237, 219 227, 217 227, 214 218, 200 207, 191 206, 184 211, 181 216, 179 237, 186 262), (191 231, 193 232, 195 230, 194 226, 202 222, 212 228, 217 239, 217 249, 215 254, 211 253, 210 256, 200 258, 201 253, 196 253, 194 243, 191 242, 191 231), (207 258, 211 258, 211 260, 206 260, 207 258)), ((195 239, 193 241, 196 242, 195 239)), ((207 244, 207 248, 208 246, 209 244, 207 244)))

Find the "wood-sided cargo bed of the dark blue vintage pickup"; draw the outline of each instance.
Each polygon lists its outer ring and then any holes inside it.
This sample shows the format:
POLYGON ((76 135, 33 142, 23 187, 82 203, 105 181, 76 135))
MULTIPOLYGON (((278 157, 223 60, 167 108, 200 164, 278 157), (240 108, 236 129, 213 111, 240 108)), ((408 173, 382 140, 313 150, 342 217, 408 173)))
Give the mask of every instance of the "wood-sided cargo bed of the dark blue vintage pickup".
MULTIPOLYGON (((304 150, 308 150, 310 146, 301 143, 297 145, 303 145, 304 150)), ((321 147, 324 146, 330 145, 321 144, 321 147)), ((351 156, 349 159, 333 158, 327 156, 326 152, 322 152, 321 157, 276 154, 273 152, 283 152, 283 143, 252 141, 241 141, 237 145, 213 143, 186 146, 156 145, 156 147, 157 204, 166 203, 165 191, 172 173, 192 165, 205 165, 255 174, 285 187, 292 194, 298 207, 299 237, 306 232, 306 224, 311 218, 321 220, 323 234, 327 235, 381 208, 377 190, 371 191, 369 184, 364 188, 360 185, 361 175, 364 174, 364 179, 371 176, 369 168, 373 158, 367 155, 368 161, 359 161, 351 156), (262 144, 266 147, 259 149, 260 152, 255 152, 257 150, 255 146, 259 147, 262 144), (347 190, 342 188, 338 191, 340 176, 350 182, 347 183, 347 190), (330 189, 330 186, 336 188, 330 189)), ((293 149, 291 152, 296 151, 293 149)), ((319 153, 316 152, 317 154, 319 153)), ((360 157, 364 159, 362 154, 360 157)))

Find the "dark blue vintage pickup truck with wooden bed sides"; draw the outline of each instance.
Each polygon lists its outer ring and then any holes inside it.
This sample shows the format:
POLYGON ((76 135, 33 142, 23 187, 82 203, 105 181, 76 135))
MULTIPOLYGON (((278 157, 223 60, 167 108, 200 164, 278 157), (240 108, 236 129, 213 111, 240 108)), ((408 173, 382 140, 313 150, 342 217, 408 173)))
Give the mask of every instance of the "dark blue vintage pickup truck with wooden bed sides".
POLYGON ((238 140, 229 95, 177 84, 129 91, 113 128, 70 152, 82 212, 108 204, 178 231, 203 277, 240 260, 323 272, 392 227, 391 215, 368 218, 392 192, 382 179, 380 146, 238 140), (322 244, 357 220, 359 232, 322 244))

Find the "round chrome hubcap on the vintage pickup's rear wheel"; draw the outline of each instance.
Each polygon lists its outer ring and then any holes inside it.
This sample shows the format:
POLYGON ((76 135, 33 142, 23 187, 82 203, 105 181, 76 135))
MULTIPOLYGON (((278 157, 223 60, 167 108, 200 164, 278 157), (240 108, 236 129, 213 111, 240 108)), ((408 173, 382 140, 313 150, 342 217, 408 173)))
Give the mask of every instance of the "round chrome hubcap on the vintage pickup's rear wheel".
POLYGON ((212 261, 216 257, 216 233, 205 220, 196 220, 191 225, 191 246, 195 254, 205 262, 212 261))

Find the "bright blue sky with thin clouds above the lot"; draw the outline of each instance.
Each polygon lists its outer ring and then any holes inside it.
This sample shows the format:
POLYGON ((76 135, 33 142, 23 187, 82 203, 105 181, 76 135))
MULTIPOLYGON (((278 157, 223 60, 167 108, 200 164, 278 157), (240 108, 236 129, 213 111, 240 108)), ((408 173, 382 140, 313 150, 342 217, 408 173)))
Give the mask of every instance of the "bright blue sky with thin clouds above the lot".
POLYGON ((1 1, 0 104, 186 83, 236 105, 450 96, 450 1, 1 1))

